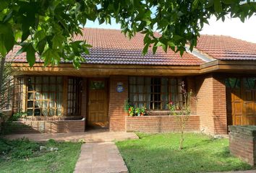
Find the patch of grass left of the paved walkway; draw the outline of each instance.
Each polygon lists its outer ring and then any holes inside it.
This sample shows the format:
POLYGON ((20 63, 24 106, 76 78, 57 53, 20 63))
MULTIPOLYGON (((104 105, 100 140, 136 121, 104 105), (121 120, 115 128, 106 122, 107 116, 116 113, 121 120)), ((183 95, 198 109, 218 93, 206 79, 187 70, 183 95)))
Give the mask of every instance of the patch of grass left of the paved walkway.
POLYGON ((82 143, 32 143, 0 138, 0 172, 73 172, 82 143), (45 146, 45 151, 40 151, 45 146), (49 151, 55 148, 56 151, 49 151))

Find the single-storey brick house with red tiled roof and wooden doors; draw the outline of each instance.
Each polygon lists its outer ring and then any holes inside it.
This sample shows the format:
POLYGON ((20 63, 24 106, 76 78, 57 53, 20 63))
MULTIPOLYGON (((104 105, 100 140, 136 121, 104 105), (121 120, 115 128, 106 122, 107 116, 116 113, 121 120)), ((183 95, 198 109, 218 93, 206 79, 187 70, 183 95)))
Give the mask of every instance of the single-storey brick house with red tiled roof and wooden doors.
POLYGON ((72 63, 30 68, 25 54, 7 56, 16 71, 13 112, 27 117, 24 132, 177 130, 169 101, 184 102, 180 83, 192 91, 188 131, 226 134, 228 125, 256 124, 256 44, 202 35, 192 53, 151 48, 142 56, 143 35, 131 40, 120 30, 84 29, 77 40, 93 45, 79 70, 72 63), (124 102, 145 106, 147 116, 128 117, 124 102))

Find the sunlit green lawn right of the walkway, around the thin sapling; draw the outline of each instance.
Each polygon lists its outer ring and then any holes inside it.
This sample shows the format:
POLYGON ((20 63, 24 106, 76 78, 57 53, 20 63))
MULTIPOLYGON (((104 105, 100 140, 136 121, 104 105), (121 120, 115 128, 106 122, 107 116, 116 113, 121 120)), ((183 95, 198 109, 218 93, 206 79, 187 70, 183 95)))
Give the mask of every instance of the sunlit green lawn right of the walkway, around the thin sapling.
POLYGON ((116 142, 129 172, 223 172, 252 169, 229 154, 228 139, 186 133, 179 151, 179 134, 143 134, 140 139, 116 142))

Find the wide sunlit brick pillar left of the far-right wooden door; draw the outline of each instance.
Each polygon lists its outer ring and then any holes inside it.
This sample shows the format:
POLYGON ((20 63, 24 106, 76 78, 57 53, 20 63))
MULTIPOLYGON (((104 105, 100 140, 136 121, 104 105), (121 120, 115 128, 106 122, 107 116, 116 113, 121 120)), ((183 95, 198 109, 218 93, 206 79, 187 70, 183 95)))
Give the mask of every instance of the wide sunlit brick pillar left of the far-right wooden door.
POLYGON ((211 135, 226 134, 226 86, 218 75, 197 77, 197 115, 200 129, 211 135))

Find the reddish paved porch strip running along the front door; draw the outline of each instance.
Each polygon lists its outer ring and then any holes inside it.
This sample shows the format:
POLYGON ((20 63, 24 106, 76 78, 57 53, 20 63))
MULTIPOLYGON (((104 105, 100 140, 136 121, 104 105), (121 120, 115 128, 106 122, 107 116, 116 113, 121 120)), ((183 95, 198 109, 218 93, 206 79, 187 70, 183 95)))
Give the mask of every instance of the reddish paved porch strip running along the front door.
POLYGON ((17 139, 28 138, 30 141, 46 142, 49 139, 55 141, 84 141, 86 143, 124 141, 127 139, 138 139, 135 133, 110 132, 104 129, 88 130, 82 133, 30 133, 30 134, 12 134, 5 138, 17 139))

